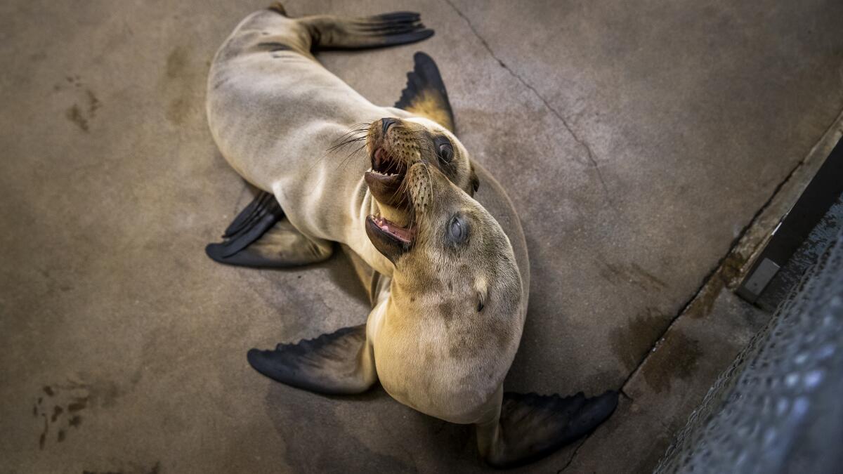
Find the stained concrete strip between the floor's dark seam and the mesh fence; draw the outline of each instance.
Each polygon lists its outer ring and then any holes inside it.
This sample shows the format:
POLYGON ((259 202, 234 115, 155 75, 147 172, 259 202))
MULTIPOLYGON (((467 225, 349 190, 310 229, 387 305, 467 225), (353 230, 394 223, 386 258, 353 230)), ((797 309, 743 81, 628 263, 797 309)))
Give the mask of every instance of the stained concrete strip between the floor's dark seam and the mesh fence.
POLYGON ((566 466, 573 464, 576 471, 586 472, 643 473, 651 470, 708 388, 769 319, 769 313, 738 299, 729 290, 734 290, 743 281, 752 267, 754 253, 763 249, 765 240, 772 234, 781 216, 791 209, 841 135, 843 114, 837 117, 810 153, 776 186, 770 199, 741 231, 728 255, 705 278, 705 283, 693 299, 674 318, 650 353, 624 381, 620 394, 626 402, 620 404, 620 410, 615 415, 617 418, 609 422, 605 429, 598 430, 593 440, 589 436, 583 444, 577 446, 566 466), (695 320, 701 317, 706 319, 703 334, 699 327, 695 328, 695 320), (689 342, 693 347, 688 347, 689 342), (671 346, 681 346, 681 353, 676 349, 671 350, 671 346), (699 347, 704 347, 704 351, 701 352, 699 347), (681 374, 687 375, 683 367, 688 364, 689 354, 693 359, 691 364, 694 364, 693 380, 679 382, 683 384, 679 387, 681 390, 665 392, 657 388, 653 391, 654 387, 647 382, 647 378, 652 378, 653 372, 663 373, 666 367, 682 378, 681 374), (668 364, 664 362, 665 358, 669 358, 668 364), (644 390, 642 382, 647 384, 644 390), (635 391, 639 394, 638 399, 634 400, 626 391, 635 391), (615 428, 612 428, 612 423, 615 423, 615 428), (618 429, 618 426, 622 428, 618 429), (642 437, 642 432, 649 436, 642 437), (585 450, 579 455, 583 446, 585 450), (607 451, 616 454, 607 460, 607 451))

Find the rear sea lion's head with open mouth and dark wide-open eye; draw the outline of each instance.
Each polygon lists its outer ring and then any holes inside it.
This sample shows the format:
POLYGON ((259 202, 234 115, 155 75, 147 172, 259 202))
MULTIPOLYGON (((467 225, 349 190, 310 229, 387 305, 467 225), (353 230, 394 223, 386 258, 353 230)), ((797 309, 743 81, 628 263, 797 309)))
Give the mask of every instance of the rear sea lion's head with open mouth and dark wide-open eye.
POLYGON ((479 186, 468 151, 457 137, 423 117, 386 117, 368 127, 366 150, 372 170, 365 175, 385 217, 406 224, 407 171, 416 163, 439 170, 459 189, 473 196, 479 186))

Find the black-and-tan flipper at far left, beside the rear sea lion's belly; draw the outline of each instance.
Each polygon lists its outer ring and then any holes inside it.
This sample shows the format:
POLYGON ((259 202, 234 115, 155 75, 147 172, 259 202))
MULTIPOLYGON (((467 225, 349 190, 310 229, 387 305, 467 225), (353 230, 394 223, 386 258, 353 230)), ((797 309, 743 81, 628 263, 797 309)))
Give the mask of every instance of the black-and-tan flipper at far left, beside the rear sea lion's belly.
POLYGON ((296 267, 327 259, 333 246, 298 232, 274 196, 260 191, 228 225, 223 242, 208 244, 212 260, 242 267, 296 267))

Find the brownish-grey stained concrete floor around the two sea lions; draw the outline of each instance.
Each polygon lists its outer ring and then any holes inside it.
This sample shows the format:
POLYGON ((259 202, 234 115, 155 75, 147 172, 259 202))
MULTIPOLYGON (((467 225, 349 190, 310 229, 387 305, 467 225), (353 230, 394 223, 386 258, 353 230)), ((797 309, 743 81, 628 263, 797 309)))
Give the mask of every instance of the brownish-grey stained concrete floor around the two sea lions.
MULTIPOLYGON (((250 198, 207 131, 207 67, 266 3, 0 5, 0 471, 482 470, 470 428, 246 364, 367 314, 341 257, 273 272, 203 253, 250 198)), ((843 3, 285 4, 422 13, 437 33, 420 45, 321 58, 385 105, 413 51, 442 69, 529 244, 507 390, 624 387, 580 449, 523 471, 654 466, 763 324, 700 290, 843 109, 843 3)))

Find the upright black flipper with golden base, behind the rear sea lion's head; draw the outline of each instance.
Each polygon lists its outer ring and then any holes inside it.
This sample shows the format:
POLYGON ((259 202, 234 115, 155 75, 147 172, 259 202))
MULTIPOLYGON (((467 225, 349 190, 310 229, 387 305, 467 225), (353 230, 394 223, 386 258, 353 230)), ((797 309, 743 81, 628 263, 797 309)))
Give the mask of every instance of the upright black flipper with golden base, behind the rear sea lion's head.
POLYGON ((456 133, 454 110, 451 110, 448 91, 436 62, 421 51, 413 55, 413 62, 415 66, 407 73, 407 85, 395 107, 428 118, 456 133))

